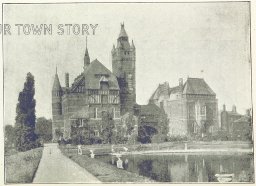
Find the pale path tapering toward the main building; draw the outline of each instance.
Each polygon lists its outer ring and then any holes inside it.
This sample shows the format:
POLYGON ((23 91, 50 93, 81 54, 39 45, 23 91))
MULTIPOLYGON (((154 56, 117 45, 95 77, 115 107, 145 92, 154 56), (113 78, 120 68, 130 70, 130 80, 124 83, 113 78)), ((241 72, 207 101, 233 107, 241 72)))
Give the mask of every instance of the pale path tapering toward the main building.
POLYGON ((33 183, 99 183, 91 173, 64 156, 58 144, 45 144, 33 183))

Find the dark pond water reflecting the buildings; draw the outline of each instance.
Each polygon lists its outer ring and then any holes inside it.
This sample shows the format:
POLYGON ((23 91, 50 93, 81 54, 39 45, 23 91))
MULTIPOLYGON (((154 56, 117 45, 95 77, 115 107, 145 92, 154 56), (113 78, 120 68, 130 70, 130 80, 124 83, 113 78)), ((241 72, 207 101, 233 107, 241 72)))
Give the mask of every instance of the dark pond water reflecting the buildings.
MULTIPOLYGON (((116 166, 117 158, 98 157, 116 166)), ((123 168, 159 182, 218 182, 216 174, 234 174, 233 182, 253 182, 253 155, 130 155, 123 168)))

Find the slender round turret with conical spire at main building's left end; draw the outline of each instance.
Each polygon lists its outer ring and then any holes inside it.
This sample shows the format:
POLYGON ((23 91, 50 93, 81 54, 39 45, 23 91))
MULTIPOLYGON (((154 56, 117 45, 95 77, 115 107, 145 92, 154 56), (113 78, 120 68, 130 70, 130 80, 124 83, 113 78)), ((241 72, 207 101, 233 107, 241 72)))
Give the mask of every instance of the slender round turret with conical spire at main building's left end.
MULTIPOLYGON (((56 74, 52 87, 52 134, 53 139, 58 140, 56 136, 56 129, 63 130, 63 117, 62 117, 62 88, 60 86, 59 77, 56 74)), ((63 131, 62 131, 63 132, 63 131)))

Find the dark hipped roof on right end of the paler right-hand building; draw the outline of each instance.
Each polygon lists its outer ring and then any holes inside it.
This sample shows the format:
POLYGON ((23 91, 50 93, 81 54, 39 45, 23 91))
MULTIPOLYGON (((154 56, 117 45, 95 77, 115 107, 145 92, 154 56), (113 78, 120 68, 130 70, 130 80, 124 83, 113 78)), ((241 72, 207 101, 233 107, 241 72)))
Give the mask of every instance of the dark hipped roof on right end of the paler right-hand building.
POLYGON ((184 84, 183 94, 216 95, 201 78, 188 78, 184 84))

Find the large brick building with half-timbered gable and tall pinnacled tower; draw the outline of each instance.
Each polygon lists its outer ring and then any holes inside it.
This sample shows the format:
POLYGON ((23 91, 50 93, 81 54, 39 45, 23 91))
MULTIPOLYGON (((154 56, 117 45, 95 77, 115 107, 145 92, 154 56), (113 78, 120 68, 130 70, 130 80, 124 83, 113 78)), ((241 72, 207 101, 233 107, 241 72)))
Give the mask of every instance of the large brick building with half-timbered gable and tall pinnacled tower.
POLYGON ((111 112, 117 126, 121 115, 132 111, 136 103, 135 46, 129 43, 124 24, 111 54, 113 72, 97 59, 91 62, 86 47, 84 69, 71 86, 68 73, 65 86, 61 86, 56 70, 52 88, 53 139, 60 135, 69 138, 72 128, 85 126, 99 136, 103 112, 111 112))

